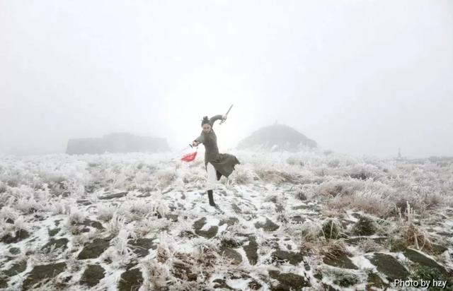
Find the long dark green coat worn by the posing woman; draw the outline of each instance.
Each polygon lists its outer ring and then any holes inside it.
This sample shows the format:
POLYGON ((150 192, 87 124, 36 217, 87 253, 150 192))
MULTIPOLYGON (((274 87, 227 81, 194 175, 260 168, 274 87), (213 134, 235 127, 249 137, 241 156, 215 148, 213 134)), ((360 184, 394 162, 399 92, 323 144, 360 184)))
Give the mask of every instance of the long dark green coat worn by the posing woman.
POLYGON ((211 131, 209 133, 201 131, 200 136, 195 138, 197 143, 205 145, 205 167, 207 167, 208 162, 214 166, 214 169, 217 172, 217 180, 219 180, 222 175, 229 177, 234 170, 234 166, 241 164, 236 156, 230 155, 229 153, 219 153, 217 136, 214 129, 212 129, 214 122, 219 119, 222 119, 222 115, 220 114, 212 117, 210 119, 211 131))

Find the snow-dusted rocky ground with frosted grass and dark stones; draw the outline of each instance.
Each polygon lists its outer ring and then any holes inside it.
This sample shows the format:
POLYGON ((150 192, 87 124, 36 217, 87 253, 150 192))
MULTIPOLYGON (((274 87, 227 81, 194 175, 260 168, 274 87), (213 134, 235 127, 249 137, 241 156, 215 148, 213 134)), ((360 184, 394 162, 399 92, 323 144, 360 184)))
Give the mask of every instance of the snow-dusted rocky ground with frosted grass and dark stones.
POLYGON ((228 153, 241 165, 214 191, 220 210, 202 155, 0 156, 0 288, 401 290, 394 280, 452 278, 453 163, 228 153))

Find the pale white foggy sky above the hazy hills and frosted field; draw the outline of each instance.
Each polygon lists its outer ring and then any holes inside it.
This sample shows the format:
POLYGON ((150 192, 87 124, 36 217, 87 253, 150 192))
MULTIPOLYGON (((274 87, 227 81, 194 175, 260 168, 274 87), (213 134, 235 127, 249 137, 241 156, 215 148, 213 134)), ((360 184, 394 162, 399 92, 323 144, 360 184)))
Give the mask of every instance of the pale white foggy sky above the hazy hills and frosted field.
POLYGON ((0 1, 0 153, 110 132, 220 150, 286 124, 350 155, 453 155, 453 2, 0 1))

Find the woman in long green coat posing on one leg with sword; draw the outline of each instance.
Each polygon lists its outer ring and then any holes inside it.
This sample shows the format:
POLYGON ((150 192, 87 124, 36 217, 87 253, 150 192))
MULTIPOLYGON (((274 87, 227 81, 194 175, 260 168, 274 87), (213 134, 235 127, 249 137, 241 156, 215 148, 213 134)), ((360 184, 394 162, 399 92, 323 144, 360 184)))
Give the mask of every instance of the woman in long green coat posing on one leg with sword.
POLYGON ((219 153, 219 148, 217 148, 217 136, 215 135, 214 129, 212 126, 214 122, 218 119, 222 121, 226 120, 226 115, 216 115, 211 119, 203 117, 201 122, 202 132, 200 136, 195 138, 192 145, 197 146, 200 143, 205 145, 205 168, 207 171, 207 197, 210 200, 210 206, 216 206, 214 203, 214 198, 212 196, 212 190, 214 189, 216 177, 217 181, 220 177, 228 177, 231 172, 234 170, 234 166, 240 164, 239 160, 234 156, 228 153, 219 153))

